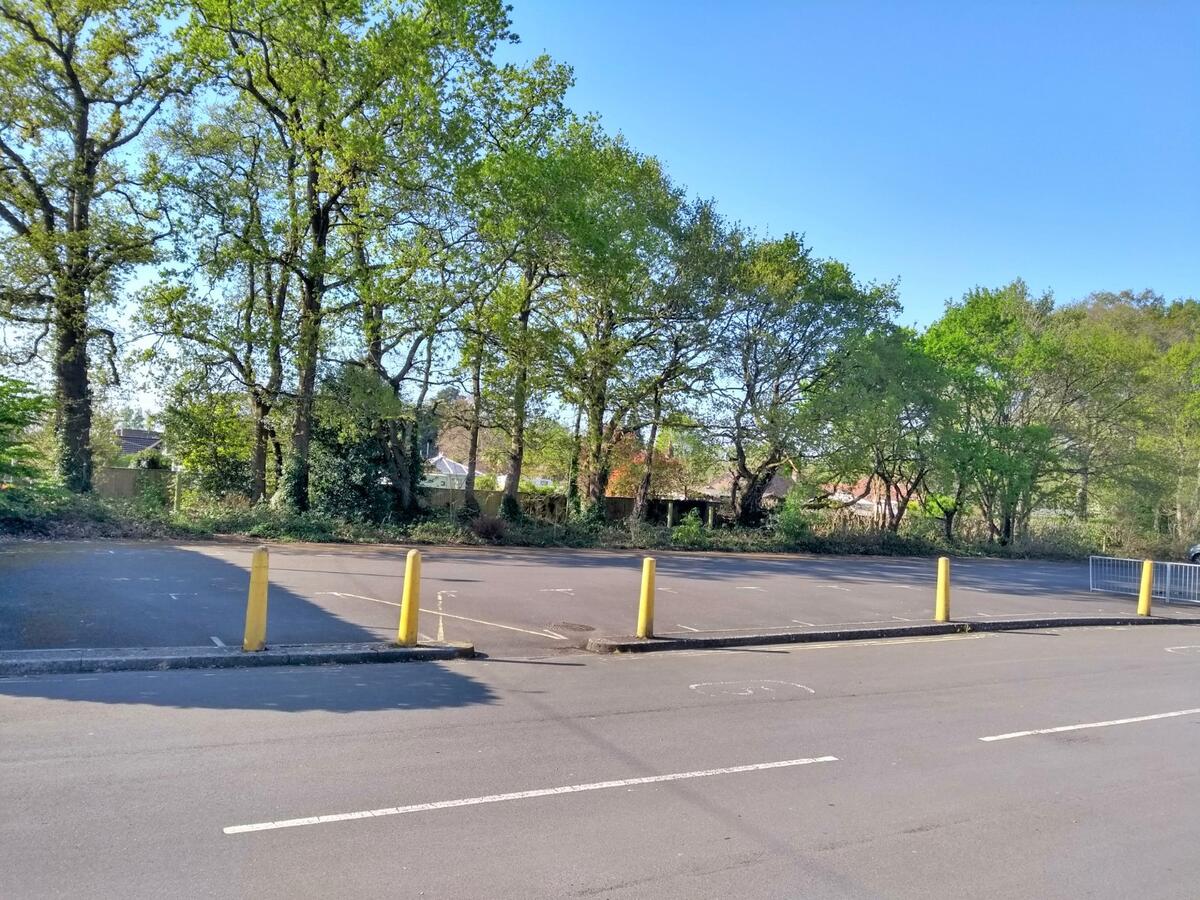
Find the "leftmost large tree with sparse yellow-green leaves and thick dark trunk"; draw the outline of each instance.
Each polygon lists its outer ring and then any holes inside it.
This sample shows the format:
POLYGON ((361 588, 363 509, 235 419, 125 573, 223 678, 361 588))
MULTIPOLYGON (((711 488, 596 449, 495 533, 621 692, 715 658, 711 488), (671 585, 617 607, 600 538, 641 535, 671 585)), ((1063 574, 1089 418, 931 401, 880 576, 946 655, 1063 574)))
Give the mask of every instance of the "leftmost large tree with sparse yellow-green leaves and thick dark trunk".
MULTIPOLYGON (((170 233, 146 126, 187 89, 158 0, 0 0, 0 318, 53 341, 58 468, 91 490, 90 347, 98 317, 170 233), (142 156, 145 166, 134 164, 142 156)), ((115 368, 114 368, 115 377, 115 368)))

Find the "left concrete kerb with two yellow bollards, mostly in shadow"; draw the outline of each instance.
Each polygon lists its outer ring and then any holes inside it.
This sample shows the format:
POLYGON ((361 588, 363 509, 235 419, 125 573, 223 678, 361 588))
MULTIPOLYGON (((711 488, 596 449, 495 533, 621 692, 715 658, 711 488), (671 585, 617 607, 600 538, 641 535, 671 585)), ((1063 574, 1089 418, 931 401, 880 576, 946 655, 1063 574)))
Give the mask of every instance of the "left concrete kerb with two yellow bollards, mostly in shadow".
POLYGON ((470 659, 469 643, 419 647, 391 643, 302 643, 269 646, 245 653, 236 647, 133 647, 0 652, 0 676, 82 674, 85 672, 164 671, 170 668, 256 668, 259 666, 328 666, 364 662, 415 662, 470 659))

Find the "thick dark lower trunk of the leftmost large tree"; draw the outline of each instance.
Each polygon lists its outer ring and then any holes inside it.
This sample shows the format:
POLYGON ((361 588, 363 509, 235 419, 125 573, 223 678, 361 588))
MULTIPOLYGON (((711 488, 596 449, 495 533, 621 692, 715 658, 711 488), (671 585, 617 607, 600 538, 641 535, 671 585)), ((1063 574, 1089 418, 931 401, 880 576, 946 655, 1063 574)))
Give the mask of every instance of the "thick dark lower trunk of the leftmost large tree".
POLYGON ((88 383, 88 307, 67 288, 55 304, 54 378, 59 474, 68 491, 91 491, 91 388, 88 383))

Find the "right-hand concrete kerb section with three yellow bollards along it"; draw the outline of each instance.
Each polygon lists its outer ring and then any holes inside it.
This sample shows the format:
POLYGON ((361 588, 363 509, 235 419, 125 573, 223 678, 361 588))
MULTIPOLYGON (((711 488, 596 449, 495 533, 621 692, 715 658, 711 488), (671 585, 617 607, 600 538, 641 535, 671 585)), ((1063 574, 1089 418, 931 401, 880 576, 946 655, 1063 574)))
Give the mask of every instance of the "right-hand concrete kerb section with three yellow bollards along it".
POLYGON ((1159 616, 1087 616, 1043 617, 1036 619, 988 619, 986 622, 947 622, 914 625, 883 625, 805 631, 764 631, 750 635, 689 635, 686 637, 594 637, 587 643, 592 653, 655 653, 659 650, 720 649, 778 643, 828 643, 871 641, 888 637, 926 635, 965 635, 972 631, 1024 631, 1049 628, 1102 628, 1118 625, 1200 625, 1200 619, 1159 616))

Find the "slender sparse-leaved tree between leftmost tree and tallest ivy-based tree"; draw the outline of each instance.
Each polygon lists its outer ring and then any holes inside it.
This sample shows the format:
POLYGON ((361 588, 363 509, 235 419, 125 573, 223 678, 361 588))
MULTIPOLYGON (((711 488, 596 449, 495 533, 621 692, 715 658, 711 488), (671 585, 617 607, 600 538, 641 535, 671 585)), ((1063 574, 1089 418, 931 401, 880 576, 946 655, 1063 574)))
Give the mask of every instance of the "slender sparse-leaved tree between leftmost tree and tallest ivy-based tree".
POLYGON ((142 294, 142 320, 181 352, 149 358, 178 362, 200 382, 221 377, 245 392, 254 437, 242 486, 263 500, 272 449, 275 484, 282 479, 272 413, 295 338, 292 263, 300 234, 287 211, 287 161, 269 126, 245 110, 217 110, 199 124, 181 118, 162 138, 172 150, 169 190, 192 228, 176 240, 185 266, 142 294))

